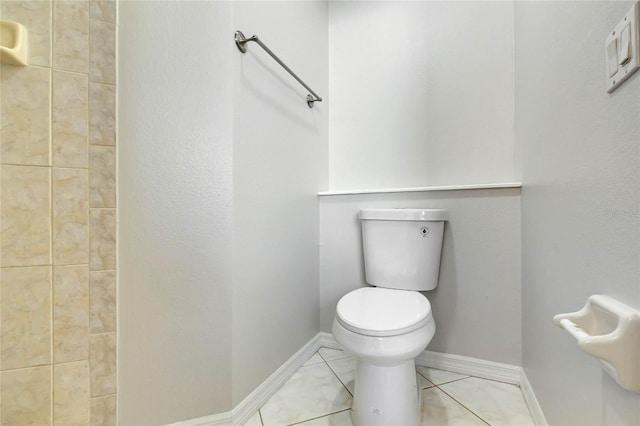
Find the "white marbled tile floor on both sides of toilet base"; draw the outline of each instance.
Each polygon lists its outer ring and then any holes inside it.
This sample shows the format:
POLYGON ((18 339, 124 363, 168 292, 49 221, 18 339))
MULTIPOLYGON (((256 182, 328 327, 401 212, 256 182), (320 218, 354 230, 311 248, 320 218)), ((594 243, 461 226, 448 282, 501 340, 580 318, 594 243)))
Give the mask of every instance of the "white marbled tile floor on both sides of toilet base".
MULTIPOLYGON (((247 426, 352 426, 354 367, 345 352, 320 348, 247 426)), ((417 371, 423 426, 533 425, 517 386, 426 367, 417 371)))

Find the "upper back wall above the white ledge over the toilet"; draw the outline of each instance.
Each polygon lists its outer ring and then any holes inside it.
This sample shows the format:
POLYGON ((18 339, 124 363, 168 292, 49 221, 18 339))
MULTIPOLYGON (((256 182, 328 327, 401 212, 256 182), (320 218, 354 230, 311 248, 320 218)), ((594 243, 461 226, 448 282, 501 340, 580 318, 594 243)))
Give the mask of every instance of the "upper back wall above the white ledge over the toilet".
POLYGON ((512 2, 331 2, 330 187, 510 182, 512 2))

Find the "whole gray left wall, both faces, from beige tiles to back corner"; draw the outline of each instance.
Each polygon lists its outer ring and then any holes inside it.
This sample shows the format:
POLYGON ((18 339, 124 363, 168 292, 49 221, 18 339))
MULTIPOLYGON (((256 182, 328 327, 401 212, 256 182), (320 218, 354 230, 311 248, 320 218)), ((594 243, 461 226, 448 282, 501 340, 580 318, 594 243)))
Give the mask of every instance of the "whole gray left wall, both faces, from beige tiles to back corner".
POLYGON ((121 3, 122 425, 231 410, 319 331, 327 103, 236 29, 328 92, 326 2, 121 3))

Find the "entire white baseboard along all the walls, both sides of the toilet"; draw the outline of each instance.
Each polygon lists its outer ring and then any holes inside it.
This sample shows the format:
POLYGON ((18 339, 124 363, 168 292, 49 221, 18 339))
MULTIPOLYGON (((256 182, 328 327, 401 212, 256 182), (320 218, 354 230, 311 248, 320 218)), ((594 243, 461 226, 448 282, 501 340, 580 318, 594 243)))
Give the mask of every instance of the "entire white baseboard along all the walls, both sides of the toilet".
MULTIPOLYGON (((320 347, 340 349, 331 333, 318 333, 232 411, 173 423, 171 426, 244 425, 320 347)), ((418 355, 416 365, 518 385, 536 426, 547 426, 533 389, 520 367, 431 351, 418 355)))

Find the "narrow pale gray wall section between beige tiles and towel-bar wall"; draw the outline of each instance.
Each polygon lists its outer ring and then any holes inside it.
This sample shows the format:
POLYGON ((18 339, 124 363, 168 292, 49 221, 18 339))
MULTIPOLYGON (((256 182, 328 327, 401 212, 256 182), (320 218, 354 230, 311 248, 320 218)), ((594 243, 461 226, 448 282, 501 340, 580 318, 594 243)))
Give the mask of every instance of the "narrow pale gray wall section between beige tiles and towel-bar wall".
POLYGON ((119 424, 167 424, 231 409, 231 4, 119 29, 119 424))

